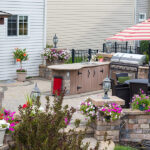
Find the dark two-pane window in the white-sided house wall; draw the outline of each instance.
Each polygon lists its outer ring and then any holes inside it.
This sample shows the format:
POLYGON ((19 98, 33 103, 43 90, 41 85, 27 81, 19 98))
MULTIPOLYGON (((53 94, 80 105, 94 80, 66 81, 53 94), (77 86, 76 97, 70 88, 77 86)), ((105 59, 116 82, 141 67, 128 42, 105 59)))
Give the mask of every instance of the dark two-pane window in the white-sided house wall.
POLYGON ((28 16, 11 16, 8 18, 8 36, 28 35, 28 16))

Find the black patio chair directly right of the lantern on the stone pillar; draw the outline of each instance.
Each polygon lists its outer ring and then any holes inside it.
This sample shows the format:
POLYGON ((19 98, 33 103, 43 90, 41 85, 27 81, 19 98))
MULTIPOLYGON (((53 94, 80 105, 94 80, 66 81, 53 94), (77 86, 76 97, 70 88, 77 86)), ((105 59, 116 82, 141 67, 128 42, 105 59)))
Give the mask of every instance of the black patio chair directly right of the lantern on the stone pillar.
POLYGON ((130 107, 130 89, 126 84, 115 85, 115 81, 111 79, 112 96, 117 96, 125 100, 125 108, 130 107))

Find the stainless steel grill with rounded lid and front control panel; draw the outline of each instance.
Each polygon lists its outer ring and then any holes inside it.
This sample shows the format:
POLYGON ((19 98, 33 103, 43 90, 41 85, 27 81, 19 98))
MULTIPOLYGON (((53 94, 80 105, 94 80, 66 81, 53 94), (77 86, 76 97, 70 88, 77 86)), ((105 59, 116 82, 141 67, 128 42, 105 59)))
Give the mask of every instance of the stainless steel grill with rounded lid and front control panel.
POLYGON ((138 76, 138 67, 145 64, 146 56, 139 54, 116 53, 111 59, 110 69, 116 73, 128 72, 138 76))

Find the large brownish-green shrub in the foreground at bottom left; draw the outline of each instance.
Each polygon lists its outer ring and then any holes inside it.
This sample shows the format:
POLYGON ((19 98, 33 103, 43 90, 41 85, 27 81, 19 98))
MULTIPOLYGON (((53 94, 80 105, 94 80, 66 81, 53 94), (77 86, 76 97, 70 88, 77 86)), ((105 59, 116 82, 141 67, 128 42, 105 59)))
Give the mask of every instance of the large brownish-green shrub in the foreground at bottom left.
MULTIPOLYGON (((62 106, 64 92, 56 96, 53 105, 50 105, 49 97, 45 112, 39 111, 40 99, 33 101, 34 106, 20 106, 19 112, 22 121, 14 133, 14 150, 87 150, 89 143, 83 145, 85 132, 76 134, 75 128, 69 133, 64 129, 70 123, 72 115, 76 111, 62 106), (34 108, 34 114, 33 114, 34 108)), ((79 127, 79 120, 75 121, 75 127, 79 127)), ((98 144, 95 150, 98 149, 98 144)))

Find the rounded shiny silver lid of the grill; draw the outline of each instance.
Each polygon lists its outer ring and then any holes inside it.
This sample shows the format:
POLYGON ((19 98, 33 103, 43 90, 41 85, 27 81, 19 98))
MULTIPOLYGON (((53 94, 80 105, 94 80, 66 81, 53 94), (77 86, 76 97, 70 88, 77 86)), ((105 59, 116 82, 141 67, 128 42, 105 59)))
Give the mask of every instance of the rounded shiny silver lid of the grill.
POLYGON ((146 61, 145 55, 128 54, 128 53, 115 53, 111 62, 120 62, 125 64, 143 65, 146 61))

